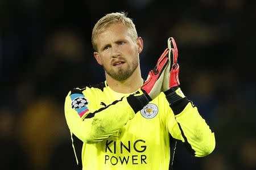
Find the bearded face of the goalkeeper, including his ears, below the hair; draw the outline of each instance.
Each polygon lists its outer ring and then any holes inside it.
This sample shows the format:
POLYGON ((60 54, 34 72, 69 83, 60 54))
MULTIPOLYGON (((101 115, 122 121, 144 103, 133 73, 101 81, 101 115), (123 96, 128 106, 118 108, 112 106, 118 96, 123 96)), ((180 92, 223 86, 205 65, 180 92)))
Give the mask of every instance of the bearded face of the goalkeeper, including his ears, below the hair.
POLYGON ((96 44, 98 52, 94 52, 94 57, 113 79, 125 80, 137 69, 142 39, 133 40, 124 25, 111 24, 99 33, 96 44))

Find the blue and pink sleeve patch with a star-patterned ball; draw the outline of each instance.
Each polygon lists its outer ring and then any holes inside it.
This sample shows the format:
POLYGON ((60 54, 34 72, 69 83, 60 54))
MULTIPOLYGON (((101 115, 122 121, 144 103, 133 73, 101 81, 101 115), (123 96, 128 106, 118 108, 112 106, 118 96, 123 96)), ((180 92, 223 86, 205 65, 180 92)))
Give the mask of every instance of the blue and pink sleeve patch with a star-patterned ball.
POLYGON ((72 109, 75 109, 80 117, 84 116, 84 114, 89 111, 87 107, 89 101, 85 99, 85 96, 82 94, 72 94, 70 97, 72 99, 72 109))

